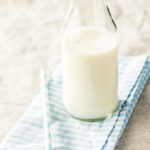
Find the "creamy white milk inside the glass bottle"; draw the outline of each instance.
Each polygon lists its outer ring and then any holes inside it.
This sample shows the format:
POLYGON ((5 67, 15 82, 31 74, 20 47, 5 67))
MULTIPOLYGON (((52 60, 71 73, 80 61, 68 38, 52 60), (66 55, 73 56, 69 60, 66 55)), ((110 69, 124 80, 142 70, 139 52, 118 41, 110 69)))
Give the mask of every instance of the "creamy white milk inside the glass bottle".
POLYGON ((117 107, 118 43, 96 27, 67 33, 62 41, 63 103, 73 116, 97 119, 117 107))

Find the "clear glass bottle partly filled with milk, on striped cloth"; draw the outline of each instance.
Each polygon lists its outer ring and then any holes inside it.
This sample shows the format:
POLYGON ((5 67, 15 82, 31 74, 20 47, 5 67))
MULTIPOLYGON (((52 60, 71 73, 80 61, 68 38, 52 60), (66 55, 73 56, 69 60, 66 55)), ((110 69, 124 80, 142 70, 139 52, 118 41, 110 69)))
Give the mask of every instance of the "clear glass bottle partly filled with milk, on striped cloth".
POLYGON ((65 109, 85 121, 110 117, 118 106, 118 42, 104 1, 71 0, 61 42, 65 109))

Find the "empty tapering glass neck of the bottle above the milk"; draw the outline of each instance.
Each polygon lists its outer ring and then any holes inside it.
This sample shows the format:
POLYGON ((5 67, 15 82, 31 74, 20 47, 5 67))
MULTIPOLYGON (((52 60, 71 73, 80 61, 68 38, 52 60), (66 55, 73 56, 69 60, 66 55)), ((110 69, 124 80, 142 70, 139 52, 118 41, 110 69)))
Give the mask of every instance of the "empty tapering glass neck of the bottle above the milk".
POLYGON ((62 26, 62 32, 66 28, 95 26, 106 28, 116 32, 113 20, 104 0, 71 0, 70 7, 62 26))

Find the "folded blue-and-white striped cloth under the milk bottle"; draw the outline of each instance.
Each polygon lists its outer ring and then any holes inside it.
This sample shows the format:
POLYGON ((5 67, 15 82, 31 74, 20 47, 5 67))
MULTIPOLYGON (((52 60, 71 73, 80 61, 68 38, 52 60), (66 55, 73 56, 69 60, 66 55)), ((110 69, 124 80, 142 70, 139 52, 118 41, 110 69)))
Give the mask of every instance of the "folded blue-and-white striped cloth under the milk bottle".
MULTIPOLYGON (((52 148, 61 150, 113 150, 150 76, 148 56, 119 58, 119 110, 109 119, 83 122, 70 117, 62 104, 59 67, 48 83, 52 148)), ((0 150, 44 150, 42 94, 0 145, 0 150)))

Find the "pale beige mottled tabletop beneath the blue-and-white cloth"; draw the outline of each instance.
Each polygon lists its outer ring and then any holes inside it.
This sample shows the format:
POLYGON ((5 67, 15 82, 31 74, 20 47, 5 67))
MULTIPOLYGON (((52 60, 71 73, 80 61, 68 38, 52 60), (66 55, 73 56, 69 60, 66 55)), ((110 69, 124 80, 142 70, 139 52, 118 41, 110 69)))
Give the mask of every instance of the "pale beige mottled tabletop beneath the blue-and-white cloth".
MULTIPOLYGON (((40 69, 60 62, 59 30, 69 0, 0 0, 0 141, 40 90, 40 69)), ((114 0, 120 54, 150 54, 149 0, 114 0)), ((116 150, 149 150, 150 81, 116 150)))

